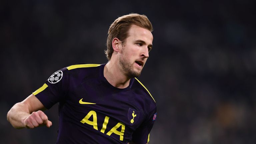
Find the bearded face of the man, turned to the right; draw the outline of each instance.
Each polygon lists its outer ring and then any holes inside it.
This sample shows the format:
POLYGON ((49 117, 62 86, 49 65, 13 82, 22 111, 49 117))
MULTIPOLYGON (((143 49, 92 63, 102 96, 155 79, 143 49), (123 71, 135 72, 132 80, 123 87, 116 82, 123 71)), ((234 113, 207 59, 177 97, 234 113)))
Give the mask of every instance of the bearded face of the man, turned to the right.
POLYGON ((128 77, 138 77, 145 65, 152 48, 152 33, 137 25, 132 25, 128 37, 122 45, 119 64, 128 77))

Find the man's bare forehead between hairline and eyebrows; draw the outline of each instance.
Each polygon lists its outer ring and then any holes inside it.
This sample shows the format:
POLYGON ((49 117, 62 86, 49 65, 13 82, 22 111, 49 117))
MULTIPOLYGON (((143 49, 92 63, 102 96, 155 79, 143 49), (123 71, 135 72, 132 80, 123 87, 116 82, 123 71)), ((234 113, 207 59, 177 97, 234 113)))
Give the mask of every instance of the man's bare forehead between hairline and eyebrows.
POLYGON ((142 28, 134 24, 131 25, 128 31, 127 38, 132 40, 138 40, 138 39, 143 40, 146 43, 150 43, 150 44, 152 44, 152 41, 153 41, 153 35, 148 29, 142 28))

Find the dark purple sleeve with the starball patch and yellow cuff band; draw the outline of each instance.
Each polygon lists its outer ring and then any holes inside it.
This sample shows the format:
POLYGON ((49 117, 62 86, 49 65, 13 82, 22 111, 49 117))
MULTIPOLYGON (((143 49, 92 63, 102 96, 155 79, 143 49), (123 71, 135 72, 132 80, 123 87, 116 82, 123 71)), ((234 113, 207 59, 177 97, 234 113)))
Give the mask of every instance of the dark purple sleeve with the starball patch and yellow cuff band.
POLYGON ((50 109, 54 104, 65 99, 68 89, 67 72, 67 68, 54 72, 42 87, 32 93, 47 109, 50 109))

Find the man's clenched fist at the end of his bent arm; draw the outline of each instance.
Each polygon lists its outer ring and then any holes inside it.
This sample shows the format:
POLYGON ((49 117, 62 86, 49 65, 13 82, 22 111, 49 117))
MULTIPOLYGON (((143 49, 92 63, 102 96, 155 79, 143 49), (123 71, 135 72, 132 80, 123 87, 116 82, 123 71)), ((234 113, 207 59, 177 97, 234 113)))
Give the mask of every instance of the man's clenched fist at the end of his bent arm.
POLYGON ((32 112, 25 120, 24 125, 26 128, 35 128, 40 125, 46 125, 48 128, 52 126, 52 122, 48 120, 48 117, 41 110, 32 112))

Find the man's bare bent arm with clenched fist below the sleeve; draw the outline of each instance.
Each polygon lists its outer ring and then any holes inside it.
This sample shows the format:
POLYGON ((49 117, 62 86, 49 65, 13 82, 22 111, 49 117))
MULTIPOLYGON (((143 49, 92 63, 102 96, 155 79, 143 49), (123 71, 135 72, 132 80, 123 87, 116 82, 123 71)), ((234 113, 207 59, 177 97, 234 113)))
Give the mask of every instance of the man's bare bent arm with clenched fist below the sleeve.
POLYGON ((14 128, 35 128, 40 125, 50 127, 52 122, 41 110, 45 110, 44 105, 31 94, 22 102, 16 103, 7 113, 7 120, 14 128))

